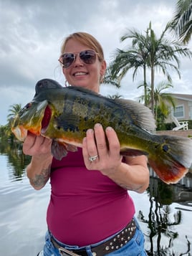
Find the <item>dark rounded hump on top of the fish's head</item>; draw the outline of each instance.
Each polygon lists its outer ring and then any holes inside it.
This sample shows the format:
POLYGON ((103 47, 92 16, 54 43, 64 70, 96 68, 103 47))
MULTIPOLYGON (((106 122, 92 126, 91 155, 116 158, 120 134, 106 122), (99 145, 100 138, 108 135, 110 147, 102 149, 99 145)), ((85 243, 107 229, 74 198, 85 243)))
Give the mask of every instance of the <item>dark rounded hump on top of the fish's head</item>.
POLYGON ((49 79, 49 78, 44 78, 42 80, 39 80, 37 84, 35 85, 35 95, 34 97, 39 94, 42 90, 44 89, 62 89, 62 85, 59 85, 59 82, 49 79))

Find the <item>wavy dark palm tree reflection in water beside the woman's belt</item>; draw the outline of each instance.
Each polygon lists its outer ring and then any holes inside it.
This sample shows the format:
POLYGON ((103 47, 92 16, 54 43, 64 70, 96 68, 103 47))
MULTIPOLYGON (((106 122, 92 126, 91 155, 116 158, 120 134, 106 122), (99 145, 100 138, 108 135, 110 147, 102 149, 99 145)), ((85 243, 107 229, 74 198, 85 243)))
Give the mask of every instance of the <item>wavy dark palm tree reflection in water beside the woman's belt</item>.
POLYGON ((177 250, 174 250, 176 239, 180 239, 176 226, 181 224, 181 210, 176 211, 173 214, 173 219, 171 219, 170 206, 160 204, 151 195, 149 202, 150 211, 148 217, 143 215, 142 210, 138 212, 138 219, 147 223, 148 229, 150 229, 150 232, 145 234, 145 237, 150 241, 150 247, 147 250, 148 255, 187 255, 191 251, 191 242, 189 242, 187 235, 186 249, 183 246, 180 254, 177 253, 177 250), (165 242, 165 240, 167 241, 165 242))

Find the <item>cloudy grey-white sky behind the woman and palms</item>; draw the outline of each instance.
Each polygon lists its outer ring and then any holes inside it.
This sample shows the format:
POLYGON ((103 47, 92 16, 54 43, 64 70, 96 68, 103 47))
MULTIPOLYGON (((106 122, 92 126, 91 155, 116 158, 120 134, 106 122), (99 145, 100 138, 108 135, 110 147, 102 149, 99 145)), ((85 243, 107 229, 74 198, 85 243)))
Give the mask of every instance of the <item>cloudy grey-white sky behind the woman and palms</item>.
MULTIPOLYGON (((9 108, 26 105, 34 97, 34 87, 42 78, 64 85, 58 57, 65 37, 88 32, 102 44, 107 64, 115 49, 125 49, 131 41, 120 42, 128 29, 145 34, 152 22, 160 35, 176 11, 176 0, 0 0, 0 125, 6 124, 9 108)), ((192 40, 188 44, 192 50, 192 40)), ((192 94, 191 61, 181 60, 181 79, 171 72, 173 89, 168 93, 192 94)), ((149 75, 149 74, 148 74, 149 75)), ((137 89, 142 71, 133 82, 132 71, 121 88, 101 85, 102 95, 123 95, 135 100, 143 94, 137 89)), ((158 73, 155 82, 165 81, 158 73)), ((150 80, 148 81, 150 82, 150 80)))

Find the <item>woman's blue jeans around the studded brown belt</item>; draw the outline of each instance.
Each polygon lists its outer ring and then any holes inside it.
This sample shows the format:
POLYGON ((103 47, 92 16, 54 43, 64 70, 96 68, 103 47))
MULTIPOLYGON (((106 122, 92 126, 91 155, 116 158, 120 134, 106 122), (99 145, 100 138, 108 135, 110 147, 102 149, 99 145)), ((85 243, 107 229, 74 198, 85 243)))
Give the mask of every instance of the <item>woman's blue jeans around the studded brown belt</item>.
MULTIPOLYGON (((135 234, 133 236, 133 238, 123 247, 121 247, 118 250, 115 250, 114 252, 110 252, 108 254, 106 254, 107 256, 147 256, 145 249, 144 249, 144 236, 143 236, 143 232, 140 230, 139 224, 137 222, 137 220, 135 219, 135 223, 137 226, 137 229, 135 231, 135 234)), ((115 234, 114 234, 115 236, 115 234)), ((112 236, 113 237, 113 236, 112 236)), ((103 242, 106 242, 107 240, 109 240, 111 237, 108 237, 106 240, 102 240, 101 242, 98 242, 97 244, 94 245, 88 245, 85 247, 78 247, 78 246, 70 246, 70 245, 65 245, 59 241, 59 245, 61 245, 62 247, 68 249, 68 250, 73 250, 73 252, 75 252, 75 250, 86 250, 87 251, 87 255, 92 256, 92 247, 95 247, 97 245, 102 244, 103 242)), ((51 242, 51 236, 49 234, 49 232, 46 233, 45 236, 45 245, 44 245, 44 256, 60 256, 59 254, 59 250, 57 248, 54 247, 54 245, 51 242)), ((105 255, 97 255, 97 256, 105 256, 105 255)))

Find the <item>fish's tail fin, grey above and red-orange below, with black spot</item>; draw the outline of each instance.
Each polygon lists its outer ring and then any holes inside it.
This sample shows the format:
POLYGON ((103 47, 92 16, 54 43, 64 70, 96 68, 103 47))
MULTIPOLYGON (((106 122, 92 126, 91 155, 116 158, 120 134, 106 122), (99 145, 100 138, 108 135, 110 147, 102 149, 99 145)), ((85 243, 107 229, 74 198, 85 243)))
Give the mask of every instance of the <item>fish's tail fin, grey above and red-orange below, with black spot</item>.
POLYGON ((148 162, 165 183, 177 183, 191 166, 192 140, 176 136, 158 137, 163 143, 155 146, 153 153, 148 156, 148 162))

